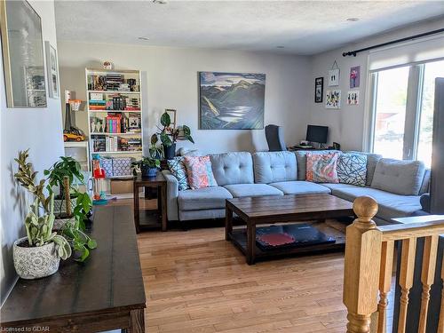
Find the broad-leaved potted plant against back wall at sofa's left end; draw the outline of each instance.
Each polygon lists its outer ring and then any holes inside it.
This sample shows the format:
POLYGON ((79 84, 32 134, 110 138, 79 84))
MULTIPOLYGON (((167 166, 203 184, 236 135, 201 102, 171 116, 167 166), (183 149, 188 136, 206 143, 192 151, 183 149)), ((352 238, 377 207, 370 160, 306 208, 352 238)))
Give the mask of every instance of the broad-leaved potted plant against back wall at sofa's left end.
POLYGON ((161 116, 161 124, 163 128, 159 128, 159 132, 151 136, 151 143, 155 145, 160 138, 165 159, 171 160, 174 158, 176 155, 176 142, 178 140, 187 140, 194 143, 194 139, 191 137, 191 130, 188 126, 182 125, 176 128, 170 126, 171 118, 167 112, 164 112, 161 116))

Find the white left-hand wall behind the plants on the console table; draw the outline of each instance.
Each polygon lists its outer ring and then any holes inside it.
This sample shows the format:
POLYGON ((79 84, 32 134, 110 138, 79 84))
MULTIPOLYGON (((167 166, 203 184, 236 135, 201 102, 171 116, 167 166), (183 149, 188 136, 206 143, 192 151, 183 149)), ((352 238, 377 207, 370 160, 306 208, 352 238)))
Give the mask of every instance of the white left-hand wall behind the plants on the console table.
MULTIPOLYGON (((44 41, 50 41, 57 49, 56 28, 53 1, 31 0, 42 19, 44 41)), ((3 73, 3 60, 0 61, 3 73)), ((1 202, 1 240, 0 255, 1 303, 16 281, 12 264, 12 243, 25 235, 23 220, 27 213, 29 198, 26 192, 17 186, 13 172, 17 170, 13 159, 19 150, 30 148, 30 161, 34 163, 39 176, 49 168, 56 159, 63 155, 61 129, 61 112, 59 99, 50 99, 45 108, 7 108, 4 91, 4 75, 0 78, 0 202, 1 202)))

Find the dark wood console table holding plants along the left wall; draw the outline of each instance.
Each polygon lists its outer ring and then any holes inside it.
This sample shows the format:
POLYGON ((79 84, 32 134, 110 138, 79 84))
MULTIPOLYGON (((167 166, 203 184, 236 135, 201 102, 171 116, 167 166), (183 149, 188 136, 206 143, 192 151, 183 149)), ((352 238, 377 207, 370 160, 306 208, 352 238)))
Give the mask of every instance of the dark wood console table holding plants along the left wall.
POLYGON ((98 247, 84 264, 68 259, 52 276, 17 281, 1 309, 2 329, 145 332, 145 289, 131 207, 97 207, 91 237, 98 247))

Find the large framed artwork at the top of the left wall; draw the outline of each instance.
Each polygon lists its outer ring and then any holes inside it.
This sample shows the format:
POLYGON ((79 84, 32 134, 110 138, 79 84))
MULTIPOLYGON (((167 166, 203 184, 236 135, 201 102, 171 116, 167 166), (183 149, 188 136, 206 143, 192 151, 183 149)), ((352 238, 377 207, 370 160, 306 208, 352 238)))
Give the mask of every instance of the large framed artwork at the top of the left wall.
POLYGON ((25 0, 2 1, 0 29, 7 106, 46 107, 40 16, 25 0))

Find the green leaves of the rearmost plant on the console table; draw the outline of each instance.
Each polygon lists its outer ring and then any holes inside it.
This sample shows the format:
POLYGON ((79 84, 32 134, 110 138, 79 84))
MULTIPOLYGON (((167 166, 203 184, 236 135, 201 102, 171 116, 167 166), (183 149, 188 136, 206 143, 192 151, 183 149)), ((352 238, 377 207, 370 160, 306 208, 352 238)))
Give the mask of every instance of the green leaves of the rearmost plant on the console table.
POLYGON ((69 184, 73 184, 77 179, 83 184, 83 174, 81 172, 80 163, 72 157, 60 156, 60 161, 52 165, 49 170, 44 170, 44 175, 48 176, 48 190, 52 192, 53 186, 59 186, 60 197, 63 197, 63 178, 69 178, 69 184))

